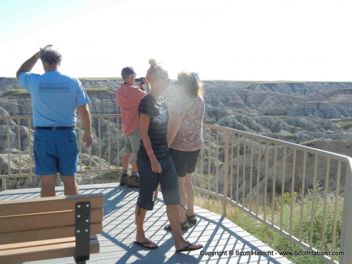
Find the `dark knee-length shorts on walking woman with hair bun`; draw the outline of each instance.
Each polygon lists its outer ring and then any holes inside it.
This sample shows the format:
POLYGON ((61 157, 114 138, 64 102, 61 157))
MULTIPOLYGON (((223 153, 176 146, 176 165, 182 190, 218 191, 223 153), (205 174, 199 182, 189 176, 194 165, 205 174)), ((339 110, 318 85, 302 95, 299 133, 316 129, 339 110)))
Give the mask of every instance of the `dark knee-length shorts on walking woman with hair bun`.
POLYGON ((137 158, 139 174, 139 196, 137 205, 146 210, 153 210, 154 208, 153 192, 157 189, 159 183, 165 205, 178 205, 181 202, 179 181, 172 158, 168 156, 158 161, 161 166, 161 173, 151 170, 149 160, 137 158))

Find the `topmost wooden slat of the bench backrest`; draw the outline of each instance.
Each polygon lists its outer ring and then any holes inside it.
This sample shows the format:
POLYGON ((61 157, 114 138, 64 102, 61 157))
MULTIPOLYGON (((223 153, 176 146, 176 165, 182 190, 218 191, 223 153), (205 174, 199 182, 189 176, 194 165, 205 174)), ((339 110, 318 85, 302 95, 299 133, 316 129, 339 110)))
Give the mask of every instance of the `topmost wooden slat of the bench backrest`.
POLYGON ((103 208, 104 194, 82 194, 3 201, 0 202, 0 217, 10 215, 52 212, 53 209, 55 211, 75 210, 76 203, 86 201, 91 202, 92 208, 103 208))

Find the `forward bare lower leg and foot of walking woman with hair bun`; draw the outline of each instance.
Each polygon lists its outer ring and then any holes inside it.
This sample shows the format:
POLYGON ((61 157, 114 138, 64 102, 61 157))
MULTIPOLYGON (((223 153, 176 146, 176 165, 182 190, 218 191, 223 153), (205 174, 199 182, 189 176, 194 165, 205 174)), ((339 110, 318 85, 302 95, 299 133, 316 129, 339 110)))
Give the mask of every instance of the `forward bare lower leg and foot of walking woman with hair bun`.
POLYGON ((180 227, 180 215, 178 207, 180 205, 166 205, 166 214, 168 221, 170 222, 173 234, 173 240, 175 242, 175 249, 179 250, 188 246, 189 249, 197 248, 200 249, 203 246, 201 244, 193 244, 182 236, 180 227))

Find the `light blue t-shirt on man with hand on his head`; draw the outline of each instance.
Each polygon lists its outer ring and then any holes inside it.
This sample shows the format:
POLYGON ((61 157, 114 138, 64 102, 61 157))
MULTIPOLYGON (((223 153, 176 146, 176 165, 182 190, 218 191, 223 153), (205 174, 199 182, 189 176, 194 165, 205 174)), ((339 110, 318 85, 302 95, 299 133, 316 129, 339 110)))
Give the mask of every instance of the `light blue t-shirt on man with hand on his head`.
POLYGON ((80 81, 59 71, 22 72, 19 82, 32 97, 34 126, 74 126, 76 106, 90 102, 80 81))

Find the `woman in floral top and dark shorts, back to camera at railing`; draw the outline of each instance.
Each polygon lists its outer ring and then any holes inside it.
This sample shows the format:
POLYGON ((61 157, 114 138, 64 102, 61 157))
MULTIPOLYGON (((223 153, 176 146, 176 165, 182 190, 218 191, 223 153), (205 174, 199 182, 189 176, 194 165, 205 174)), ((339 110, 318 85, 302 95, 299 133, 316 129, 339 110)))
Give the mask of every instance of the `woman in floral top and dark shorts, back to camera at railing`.
POLYGON ((188 223, 197 222, 192 173, 203 145, 204 100, 198 73, 180 72, 177 79, 175 86, 180 97, 169 109, 167 144, 179 179, 181 204, 188 209, 185 214, 179 208, 181 228, 186 230, 188 223))

